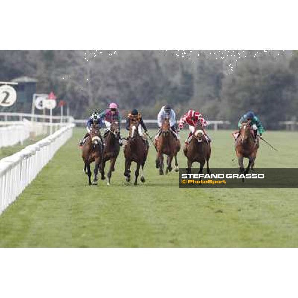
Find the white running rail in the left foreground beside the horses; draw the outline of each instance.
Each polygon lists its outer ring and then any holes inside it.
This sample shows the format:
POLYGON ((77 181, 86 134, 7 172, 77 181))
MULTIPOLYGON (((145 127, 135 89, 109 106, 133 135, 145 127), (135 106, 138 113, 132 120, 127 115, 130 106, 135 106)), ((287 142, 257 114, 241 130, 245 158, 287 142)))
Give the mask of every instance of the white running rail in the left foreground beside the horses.
POLYGON ((71 138, 74 126, 68 124, 41 141, 0 160, 0 214, 71 138))

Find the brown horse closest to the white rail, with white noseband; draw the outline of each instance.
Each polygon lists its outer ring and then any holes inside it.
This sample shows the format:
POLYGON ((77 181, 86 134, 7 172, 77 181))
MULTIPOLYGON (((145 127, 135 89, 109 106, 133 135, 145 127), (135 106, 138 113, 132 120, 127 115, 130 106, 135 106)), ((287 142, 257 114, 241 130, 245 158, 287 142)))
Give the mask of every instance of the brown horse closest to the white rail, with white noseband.
POLYGON ((84 169, 87 170, 89 185, 92 184, 90 164, 95 161, 93 184, 97 185, 97 174, 102 160, 102 143, 97 125, 91 127, 90 134, 82 146, 82 158, 85 164, 84 169))

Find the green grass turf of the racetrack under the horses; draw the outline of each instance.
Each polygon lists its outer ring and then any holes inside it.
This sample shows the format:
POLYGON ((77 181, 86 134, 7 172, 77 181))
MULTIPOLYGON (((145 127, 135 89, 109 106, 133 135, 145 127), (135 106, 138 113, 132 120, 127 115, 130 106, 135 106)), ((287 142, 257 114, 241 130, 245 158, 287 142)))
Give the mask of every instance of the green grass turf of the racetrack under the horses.
MULTIPOLYGON (((76 128, 0 216, 0 247, 298 246, 297 189, 179 189, 178 173, 158 175, 152 146, 145 184, 124 184, 121 150, 111 185, 88 186, 77 145, 84 133, 76 128)), ((211 168, 237 167, 231 132, 209 133, 211 168)), ((261 144, 256 167, 297 167, 298 133, 264 138, 279 151, 261 144)))

